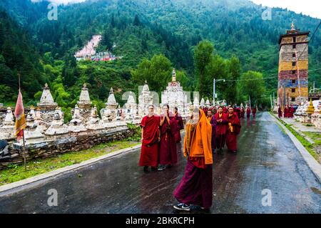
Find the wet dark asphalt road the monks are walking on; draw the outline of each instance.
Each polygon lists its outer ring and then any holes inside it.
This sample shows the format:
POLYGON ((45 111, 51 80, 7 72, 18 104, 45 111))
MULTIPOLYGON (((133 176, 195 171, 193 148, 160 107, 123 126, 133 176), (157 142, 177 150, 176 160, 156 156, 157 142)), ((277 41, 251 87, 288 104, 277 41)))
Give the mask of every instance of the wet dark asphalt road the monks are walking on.
MULTIPOLYGON (((238 154, 215 154, 211 213, 321 213, 321 184, 268 113, 242 120, 238 154), (263 189, 271 206, 263 207, 263 189)), ((185 169, 143 173, 128 152, 0 197, 0 213, 173 213, 173 190, 185 169), (80 175, 79 175, 80 174, 80 175), (58 192, 49 207, 48 190, 58 192)))

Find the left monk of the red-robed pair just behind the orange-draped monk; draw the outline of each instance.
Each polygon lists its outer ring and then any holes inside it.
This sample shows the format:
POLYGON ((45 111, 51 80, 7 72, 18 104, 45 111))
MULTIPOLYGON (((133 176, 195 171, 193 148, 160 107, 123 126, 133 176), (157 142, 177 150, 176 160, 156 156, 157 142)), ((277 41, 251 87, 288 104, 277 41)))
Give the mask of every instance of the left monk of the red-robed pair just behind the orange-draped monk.
POLYGON ((225 145, 226 138, 226 126, 228 124, 228 119, 226 114, 223 112, 223 108, 219 107, 218 112, 215 114, 216 119, 216 133, 215 133, 215 142, 216 148, 222 152, 225 145))

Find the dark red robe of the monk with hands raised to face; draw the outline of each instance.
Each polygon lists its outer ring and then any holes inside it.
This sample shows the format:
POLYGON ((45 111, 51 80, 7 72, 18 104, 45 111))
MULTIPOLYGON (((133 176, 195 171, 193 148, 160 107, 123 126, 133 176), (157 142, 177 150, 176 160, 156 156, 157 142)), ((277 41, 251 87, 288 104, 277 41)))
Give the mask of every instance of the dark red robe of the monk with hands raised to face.
POLYGON ((173 114, 169 117, 170 123, 167 120, 161 126, 161 144, 159 151, 159 164, 175 164, 177 162, 176 140, 178 125, 176 124, 173 114))

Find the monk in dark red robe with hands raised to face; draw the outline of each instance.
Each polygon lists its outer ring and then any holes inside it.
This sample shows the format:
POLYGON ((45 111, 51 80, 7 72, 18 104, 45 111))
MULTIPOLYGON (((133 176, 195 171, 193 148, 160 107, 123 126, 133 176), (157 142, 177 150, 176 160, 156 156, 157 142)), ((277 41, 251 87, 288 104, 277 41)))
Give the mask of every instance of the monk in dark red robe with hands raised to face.
POLYGON ((176 124, 173 113, 169 112, 169 106, 167 104, 163 106, 160 126, 159 171, 166 167, 171 167, 177 162, 175 134, 177 134, 178 125, 176 124))

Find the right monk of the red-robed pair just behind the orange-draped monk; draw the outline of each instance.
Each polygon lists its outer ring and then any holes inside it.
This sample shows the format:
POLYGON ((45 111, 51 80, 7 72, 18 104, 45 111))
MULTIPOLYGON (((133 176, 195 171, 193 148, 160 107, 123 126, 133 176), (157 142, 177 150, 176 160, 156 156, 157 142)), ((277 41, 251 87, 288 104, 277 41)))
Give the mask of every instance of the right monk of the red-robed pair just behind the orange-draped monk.
POLYGON ((237 137, 240 134, 240 119, 238 114, 233 111, 233 108, 228 110, 228 134, 226 135, 226 146, 229 152, 236 152, 238 150, 237 137))

